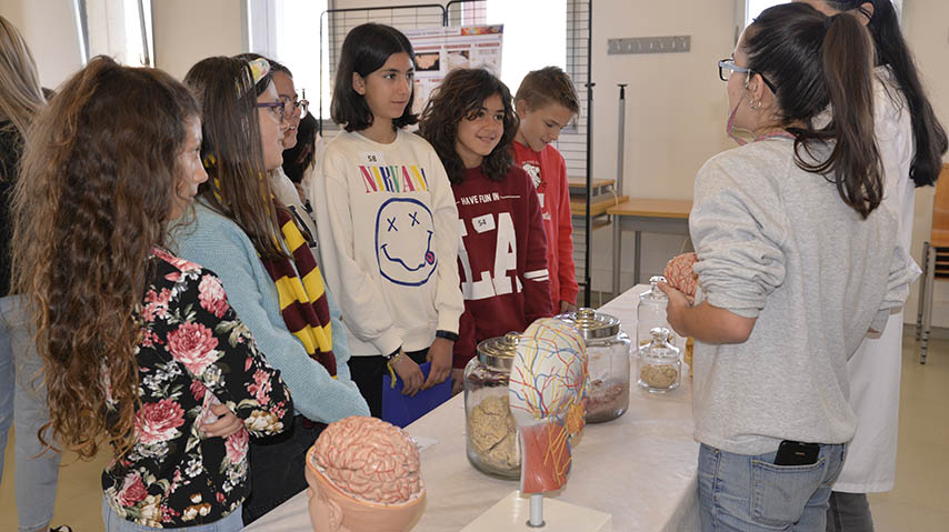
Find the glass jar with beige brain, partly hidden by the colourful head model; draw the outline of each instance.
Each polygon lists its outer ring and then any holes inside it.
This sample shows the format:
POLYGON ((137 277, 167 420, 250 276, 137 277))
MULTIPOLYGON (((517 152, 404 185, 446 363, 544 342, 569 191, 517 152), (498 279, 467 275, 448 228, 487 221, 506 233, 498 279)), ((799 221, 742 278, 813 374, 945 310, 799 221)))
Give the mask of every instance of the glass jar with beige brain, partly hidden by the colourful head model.
POLYGON ((478 344, 464 367, 464 422, 468 461, 478 470, 520 479, 518 426, 508 402, 511 365, 521 337, 509 332, 478 344))

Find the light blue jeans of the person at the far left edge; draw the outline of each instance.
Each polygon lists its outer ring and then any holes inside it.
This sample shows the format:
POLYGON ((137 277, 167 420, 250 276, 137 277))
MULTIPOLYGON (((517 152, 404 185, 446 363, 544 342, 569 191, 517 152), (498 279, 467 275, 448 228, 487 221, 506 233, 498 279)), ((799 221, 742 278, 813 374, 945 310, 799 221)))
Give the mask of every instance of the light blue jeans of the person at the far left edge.
POLYGON ((37 432, 49 421, 40 375, 42 361, 19 302, 17 295, 0 298, 0 478, 7 436, 13 424, 17 520, 20 532, 34 532, 47 530, 52 520, 60 454, 40 454, 42 444, 37 432))

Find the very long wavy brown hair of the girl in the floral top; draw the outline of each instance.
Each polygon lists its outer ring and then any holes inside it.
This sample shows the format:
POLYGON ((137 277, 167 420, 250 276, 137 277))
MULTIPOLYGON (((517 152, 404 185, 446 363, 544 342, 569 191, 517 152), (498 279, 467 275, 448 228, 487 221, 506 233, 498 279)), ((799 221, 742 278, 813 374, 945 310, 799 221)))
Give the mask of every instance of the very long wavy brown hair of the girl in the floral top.
POLYGON ((93 58, 30 129, 13 202, 13 284, 37 328, 54 439, 122 454, 140 404, 132 311, 181 180, 191 92, 167 73, 93 58), (114 402, 112 410, 108 401, 114 402))

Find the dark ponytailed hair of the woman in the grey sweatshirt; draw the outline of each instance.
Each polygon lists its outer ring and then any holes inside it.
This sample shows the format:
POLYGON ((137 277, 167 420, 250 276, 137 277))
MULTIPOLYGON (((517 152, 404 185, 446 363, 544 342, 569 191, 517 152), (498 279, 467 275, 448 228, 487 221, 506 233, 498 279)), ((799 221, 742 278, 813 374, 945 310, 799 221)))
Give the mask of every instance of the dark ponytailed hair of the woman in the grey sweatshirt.
POLYGON ((868 217, 883 199, 883 173, 867 29, 849 14, 826 17, 807 3, 786 3, 755 19, 742 48, 748 68, 777 87, 779 119, 796 137, 797 164, 832 180, 843 202, 868 217), (830 123, 815 129, 813 119, 828 106, 830 123), (815 144, 831 147, 830 155, 815 162, 815 144))

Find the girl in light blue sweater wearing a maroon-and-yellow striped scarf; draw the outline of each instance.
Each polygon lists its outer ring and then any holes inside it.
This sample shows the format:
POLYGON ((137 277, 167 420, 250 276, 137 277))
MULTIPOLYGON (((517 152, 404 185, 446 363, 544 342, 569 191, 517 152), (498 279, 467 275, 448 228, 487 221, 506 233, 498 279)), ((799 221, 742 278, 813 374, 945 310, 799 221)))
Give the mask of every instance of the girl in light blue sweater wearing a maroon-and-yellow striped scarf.
POLYGON ((208 58, 184 77, 203 110, 208 181, 194 223, 177 232, 181 255, 213 268, 261 352, 293 394, 291 430, 251 443, 253 491, 244 524, 307 486, 304 454, 326 423, 367 415, 349 378, 339 310, 304 231, 274 198, 268 172, 283 162, 286 106, 262 58, 208 58))

